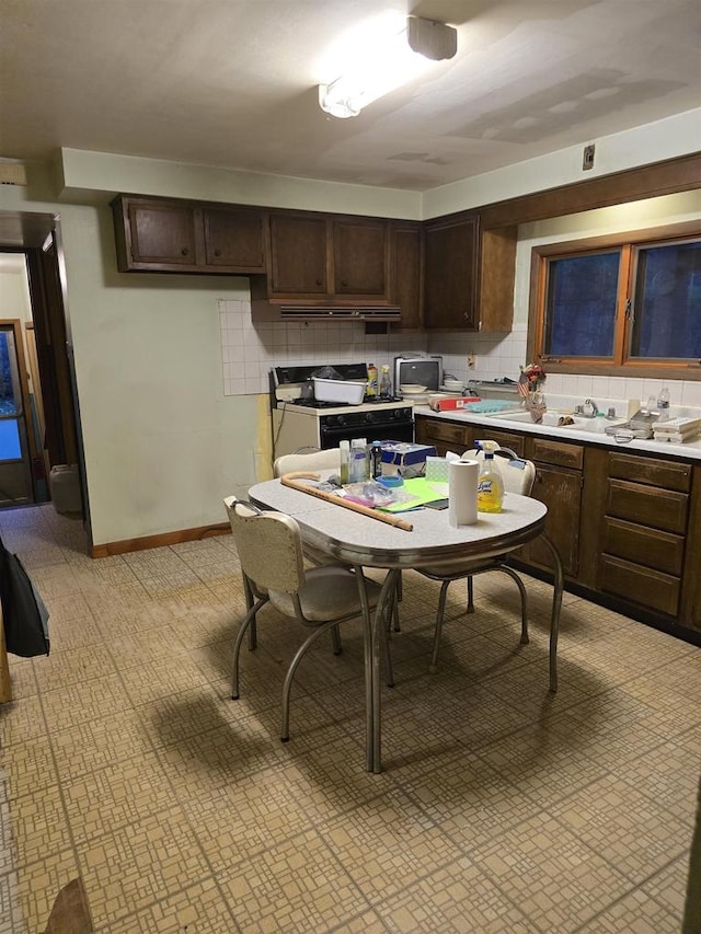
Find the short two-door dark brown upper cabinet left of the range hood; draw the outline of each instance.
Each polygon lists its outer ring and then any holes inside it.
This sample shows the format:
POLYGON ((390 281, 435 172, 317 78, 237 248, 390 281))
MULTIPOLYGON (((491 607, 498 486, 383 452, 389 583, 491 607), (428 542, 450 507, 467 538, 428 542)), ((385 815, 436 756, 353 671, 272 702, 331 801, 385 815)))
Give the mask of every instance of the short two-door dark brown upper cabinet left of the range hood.
POLYGON ((123 273, 265 272, 261 208, 120 195, 112 210, 123 273))

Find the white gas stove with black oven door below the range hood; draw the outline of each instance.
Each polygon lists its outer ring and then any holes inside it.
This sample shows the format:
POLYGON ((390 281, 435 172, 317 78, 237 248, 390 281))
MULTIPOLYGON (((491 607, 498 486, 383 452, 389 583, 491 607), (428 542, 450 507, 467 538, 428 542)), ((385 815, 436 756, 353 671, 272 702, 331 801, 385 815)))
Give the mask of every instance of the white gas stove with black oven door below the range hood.
MULTIPOLYGON (((337 448, 340 441, 413 441, 414 411, 401 399, 365 399, 358 405, 319 402, 311 389, 319 366, 275 367, 271 372, 273 452, 337 448)), ((337 364, 342 379, 367 379, 365 364, 337 364)))

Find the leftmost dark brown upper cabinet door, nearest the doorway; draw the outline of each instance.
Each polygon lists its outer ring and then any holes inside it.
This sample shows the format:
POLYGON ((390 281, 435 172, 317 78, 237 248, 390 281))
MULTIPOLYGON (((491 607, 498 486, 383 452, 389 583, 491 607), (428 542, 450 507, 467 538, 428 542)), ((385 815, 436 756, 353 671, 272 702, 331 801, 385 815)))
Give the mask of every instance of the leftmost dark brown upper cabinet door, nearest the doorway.
POLYGON ((151 269, 196 264, 195 211, 186 205, 129 201, 129 258, 151 269))

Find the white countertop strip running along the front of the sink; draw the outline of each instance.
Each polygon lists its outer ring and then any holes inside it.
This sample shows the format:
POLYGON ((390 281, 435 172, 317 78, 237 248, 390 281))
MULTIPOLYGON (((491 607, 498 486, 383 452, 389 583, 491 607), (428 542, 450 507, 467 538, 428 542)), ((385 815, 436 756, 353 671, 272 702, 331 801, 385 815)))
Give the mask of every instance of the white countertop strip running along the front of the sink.
MULTIPOLYGON (((619 443, 611 435, 598 431, 579 430, 575 427, 556 428, 549 425, 536 425, 532 422, 509 419, 507 415, 495 417, 494 415, 478 415, 474 413, 435 412, 428 405, 415 405, 414 415, 425 415, 429 418, 438 418, 441 422, 458 422, 467 425, 484 425, 495 431, 522 431, 525 435, 541 435, 558 441, 584 441, 588 445, 598 445, 605 448, 616 448, 622 451, 644 451, 646 453, 666 454, 671 458, 701 461, 701 437, 693 441, 685 441, 681 445, 669 441, 643 440, 633 438, 624 443, 619 443)), ((489 436, 486 436, 489 437, 489 436)))

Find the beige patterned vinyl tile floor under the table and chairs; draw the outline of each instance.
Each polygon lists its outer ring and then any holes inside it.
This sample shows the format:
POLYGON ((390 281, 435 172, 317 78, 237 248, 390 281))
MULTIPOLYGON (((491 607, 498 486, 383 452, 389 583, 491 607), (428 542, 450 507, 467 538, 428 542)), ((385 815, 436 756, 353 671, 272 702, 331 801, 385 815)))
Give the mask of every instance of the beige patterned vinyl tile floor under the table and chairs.
POLYGON ((230 537, 91 560, 50 506, 0 514, 50 610, 48 657, 11 656, 0 707, 0 934, 43 931, 83 879, 97 932, 678 932, 701 762, 701 649, 506 576, 404 579, 383 689, 383 766, 365 771, 363 644, 320 639, 243 593, 230 537))

